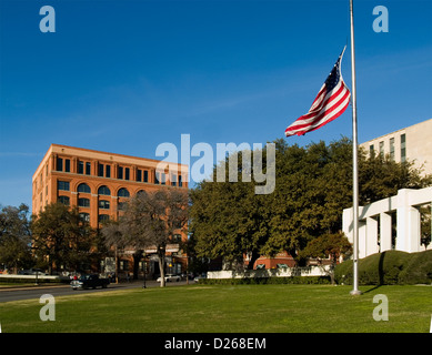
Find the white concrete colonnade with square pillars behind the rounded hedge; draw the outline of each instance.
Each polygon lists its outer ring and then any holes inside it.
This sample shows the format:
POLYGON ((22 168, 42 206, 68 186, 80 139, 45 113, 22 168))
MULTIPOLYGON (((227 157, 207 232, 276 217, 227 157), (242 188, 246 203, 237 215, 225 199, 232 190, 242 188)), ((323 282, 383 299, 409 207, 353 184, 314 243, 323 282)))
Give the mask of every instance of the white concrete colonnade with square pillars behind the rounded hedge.
MULTIPOLYGON (((390 250, 421 252, 432 250, 432 243, 421 244, 420 206, 431 209, 432 186, 403 189, 398 195, 359 206, 359 257, 390 250), (392 221, 396 221, 395 235, 392 221)), ((353 210, 343 210, 342 230, 353 243, 353 210)))

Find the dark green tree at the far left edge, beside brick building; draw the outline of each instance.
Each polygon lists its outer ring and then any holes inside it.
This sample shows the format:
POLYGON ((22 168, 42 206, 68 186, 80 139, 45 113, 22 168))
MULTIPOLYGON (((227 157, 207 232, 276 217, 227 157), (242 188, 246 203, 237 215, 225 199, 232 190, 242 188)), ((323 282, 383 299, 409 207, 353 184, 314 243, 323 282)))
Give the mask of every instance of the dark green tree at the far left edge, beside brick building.
POLYGON ((0 264, 12 268, 33 266, 30 248, 29 207, 6 206, 0 212, 0 264))

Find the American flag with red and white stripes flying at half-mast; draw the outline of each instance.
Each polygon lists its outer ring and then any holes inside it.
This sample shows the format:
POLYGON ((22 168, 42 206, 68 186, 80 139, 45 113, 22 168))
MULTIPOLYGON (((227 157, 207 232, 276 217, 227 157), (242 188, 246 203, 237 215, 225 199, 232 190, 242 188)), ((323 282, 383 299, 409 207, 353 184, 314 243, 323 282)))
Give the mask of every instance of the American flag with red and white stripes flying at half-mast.
MULTIPOLYGON (((345 47, 346 48, 346 47, 345 47)), ((339 118, 350 103, 350 90, 348 90, 341 73, 343 49, 334 64, 330 75, 326 78, 320 92, 312 103, 309 112, 297 119, 285 130, 285 136, 303 135, 318 130, 339 118)))

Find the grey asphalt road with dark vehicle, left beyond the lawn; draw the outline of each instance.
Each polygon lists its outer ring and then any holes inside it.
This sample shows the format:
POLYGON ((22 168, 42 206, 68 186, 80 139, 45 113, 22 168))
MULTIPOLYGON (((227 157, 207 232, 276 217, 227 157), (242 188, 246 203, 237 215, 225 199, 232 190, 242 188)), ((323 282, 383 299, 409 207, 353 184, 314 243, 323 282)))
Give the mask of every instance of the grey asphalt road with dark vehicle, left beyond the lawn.
MULTIPOLYGON (((193 283, 190 282, 190 283, 193 283)), ((185 285, 185 281, 167 283, 168 287, 185 285)), ((137 288, 142 287, 143 283, 140 282, 124 282, 119 284, 110 284, 107 288, 96 288, 96 290, 72 290, 69 285, 41 285, 41 286, 29 286, 29 287, 11 287, 11 288, 0 288, 0 303, 20 301, 20 300, 32 300, 40 298, 43 294, 50 294, 52 296, 71 296, 83 293, 94 293, 94 292, 111 292, 119 290, 137 288)), ((147 287, 159 287, 159 282, 147 281, 147 287)))

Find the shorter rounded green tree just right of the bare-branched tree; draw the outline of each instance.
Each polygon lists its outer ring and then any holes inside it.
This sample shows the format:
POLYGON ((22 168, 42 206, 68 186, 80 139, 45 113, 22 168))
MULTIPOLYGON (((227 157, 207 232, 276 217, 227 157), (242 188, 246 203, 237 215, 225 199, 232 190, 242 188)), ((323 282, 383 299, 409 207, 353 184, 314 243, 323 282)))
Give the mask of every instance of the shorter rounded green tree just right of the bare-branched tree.
MULTIPOLYGON (((203 181, 191 191, 190 232, 197 256, 222 256, 232 267, 243 267, 245 257, 251 268, 269 236, 269 210, 265 209, 264 195, 255 194, 254 180, 242 180, 243 155, 242 152, 238 154, 238 182, 230 182, 227 158, 220 162, 225 164, 223 182, 203 181)), ((265 152, 263 160, 267 161, 265 152)), ((217 169, 213 181, 217 181, 217 169)), ((253 176, 253 169, 250 175, 253 176)))

